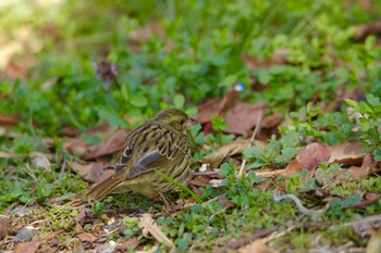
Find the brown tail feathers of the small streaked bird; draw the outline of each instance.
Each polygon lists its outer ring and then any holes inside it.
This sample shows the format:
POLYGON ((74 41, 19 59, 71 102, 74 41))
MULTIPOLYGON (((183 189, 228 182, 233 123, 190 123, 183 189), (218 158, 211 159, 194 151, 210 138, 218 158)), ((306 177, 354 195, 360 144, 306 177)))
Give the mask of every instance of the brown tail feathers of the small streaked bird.
POLYGON ((111 191, 113 191, 119 185, 123 182, 123 175, 112 175, 111 177, 107 178, 106 180, 99 182, 95 187, 93 187, 87 193, 87 199, 93 199, 100 201, 105 199, 111 191))

